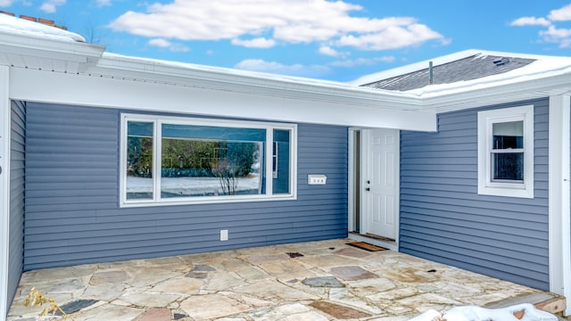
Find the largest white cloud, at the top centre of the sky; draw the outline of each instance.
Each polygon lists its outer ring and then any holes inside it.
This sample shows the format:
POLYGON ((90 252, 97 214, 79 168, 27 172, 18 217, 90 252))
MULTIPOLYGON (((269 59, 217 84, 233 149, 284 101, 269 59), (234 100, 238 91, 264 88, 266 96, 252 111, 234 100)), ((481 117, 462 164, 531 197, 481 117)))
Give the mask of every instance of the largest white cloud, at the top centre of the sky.
POLYGON ((259 48, 327 41, 376 50, 443 40, 442 35, 414 18, 351 15, 362 9, 360 5, 326 0, 175 0, 147 5, 146 12, 125 12, 110 27, 144 37, 228 39, 235 45, 259 48), (386 41, 386 37, 391 40, 386 41))

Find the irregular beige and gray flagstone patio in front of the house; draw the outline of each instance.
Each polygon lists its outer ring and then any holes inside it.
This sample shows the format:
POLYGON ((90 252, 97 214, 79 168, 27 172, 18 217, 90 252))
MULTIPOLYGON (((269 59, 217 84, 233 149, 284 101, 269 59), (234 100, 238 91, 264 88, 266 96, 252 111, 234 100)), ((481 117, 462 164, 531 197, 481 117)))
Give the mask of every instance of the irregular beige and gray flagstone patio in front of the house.
MULTIPOLYGON (((79 320, 408 320, 427 309, 540 303, 554 294, 348 239, 292 243, 29 271, 8 316, 33 286, 79 320)), ((559 310, 558 310, 559 309, 559 310)))

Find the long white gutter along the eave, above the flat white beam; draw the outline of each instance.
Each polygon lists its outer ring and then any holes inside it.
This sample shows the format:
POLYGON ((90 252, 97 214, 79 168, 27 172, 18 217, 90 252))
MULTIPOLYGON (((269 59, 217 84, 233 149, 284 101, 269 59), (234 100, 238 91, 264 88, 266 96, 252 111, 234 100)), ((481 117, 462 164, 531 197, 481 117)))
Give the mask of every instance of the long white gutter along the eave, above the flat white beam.
POLYGON ((414 95, 349 86, 333 81, 295 78, 244 70, 230 70, 194 64, 164 62, 105 53, 91 75, 140 81, 194 86, 214 90, 236 91, 253 95, 272 95, 293 99, 315 99, 327 102, 353 103, 395 110, 420 110, 414 95))

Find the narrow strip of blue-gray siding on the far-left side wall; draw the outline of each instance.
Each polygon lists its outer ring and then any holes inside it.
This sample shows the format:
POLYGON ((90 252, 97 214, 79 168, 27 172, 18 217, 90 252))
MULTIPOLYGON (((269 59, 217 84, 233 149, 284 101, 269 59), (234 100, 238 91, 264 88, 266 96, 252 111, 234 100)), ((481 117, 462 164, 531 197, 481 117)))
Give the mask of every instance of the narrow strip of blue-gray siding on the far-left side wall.
POLYGON ((10 250, 8 259, 8 304, 16 292, 23 269, 24 247, 24 156, 26 109, 12 102, 10 151, 10 250))

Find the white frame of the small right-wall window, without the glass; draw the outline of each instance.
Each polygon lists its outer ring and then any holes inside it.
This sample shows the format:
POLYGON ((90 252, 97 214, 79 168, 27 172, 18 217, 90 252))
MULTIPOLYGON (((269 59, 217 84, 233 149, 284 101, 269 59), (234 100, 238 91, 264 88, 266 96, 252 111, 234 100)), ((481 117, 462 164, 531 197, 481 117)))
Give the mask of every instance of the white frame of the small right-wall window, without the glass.
POLYGON ((534 105, 478 111, 478 194, 534 198, 534 105), (524 179, 492 179, 493 124, 522 121, 524 135, 524 179))

